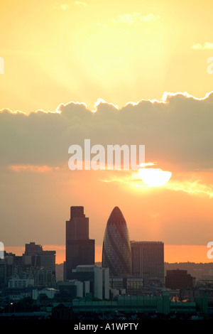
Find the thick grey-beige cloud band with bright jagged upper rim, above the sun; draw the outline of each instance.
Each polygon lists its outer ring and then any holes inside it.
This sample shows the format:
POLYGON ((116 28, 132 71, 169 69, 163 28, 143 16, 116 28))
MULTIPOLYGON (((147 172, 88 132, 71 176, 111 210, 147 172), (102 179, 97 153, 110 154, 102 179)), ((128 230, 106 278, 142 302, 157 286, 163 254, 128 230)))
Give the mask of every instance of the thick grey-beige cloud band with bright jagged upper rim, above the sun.
POLYGON ((72 144, 145 145, 146 162, 175 169, 212 168, 213 93, 197 99, 165 93, 163 99, 118 106, 98 99, 94 111, 80 102, 55 112, 0 112, 0 166, 67 166, 72 144))

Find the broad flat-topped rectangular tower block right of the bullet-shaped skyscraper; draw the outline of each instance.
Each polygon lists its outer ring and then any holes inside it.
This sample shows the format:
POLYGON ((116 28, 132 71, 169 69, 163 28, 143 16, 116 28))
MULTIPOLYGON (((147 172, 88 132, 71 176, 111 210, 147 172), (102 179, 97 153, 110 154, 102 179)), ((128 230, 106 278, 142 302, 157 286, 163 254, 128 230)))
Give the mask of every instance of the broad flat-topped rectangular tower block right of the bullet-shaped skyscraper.
POLYGON ((132 275, 142 277, 144 285, 164 282, 163 242, 131 242, 132 275))

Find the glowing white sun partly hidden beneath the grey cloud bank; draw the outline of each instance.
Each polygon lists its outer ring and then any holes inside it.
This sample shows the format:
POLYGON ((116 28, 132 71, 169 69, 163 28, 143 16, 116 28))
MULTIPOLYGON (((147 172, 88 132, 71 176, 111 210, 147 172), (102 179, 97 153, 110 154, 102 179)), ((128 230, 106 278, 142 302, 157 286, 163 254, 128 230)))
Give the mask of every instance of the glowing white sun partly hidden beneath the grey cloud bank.
POLYGON ((171 172, 162 171, 160 168, 139 168, 138 174, 143 183, 146 183, 149 187, 160 187, 160 185, 165 185, 172 176, 171 172))

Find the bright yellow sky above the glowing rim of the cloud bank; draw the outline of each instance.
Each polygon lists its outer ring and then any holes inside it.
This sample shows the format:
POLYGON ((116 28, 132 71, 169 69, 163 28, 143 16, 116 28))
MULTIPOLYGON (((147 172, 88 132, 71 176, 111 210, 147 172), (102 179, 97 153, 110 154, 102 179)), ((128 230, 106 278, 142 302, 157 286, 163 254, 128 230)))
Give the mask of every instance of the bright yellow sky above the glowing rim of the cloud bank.
POLYGON ((1 1, 1 108, 212 90, 212 1, 1 1), (8 24, 10 23, 10 24, 8 24))

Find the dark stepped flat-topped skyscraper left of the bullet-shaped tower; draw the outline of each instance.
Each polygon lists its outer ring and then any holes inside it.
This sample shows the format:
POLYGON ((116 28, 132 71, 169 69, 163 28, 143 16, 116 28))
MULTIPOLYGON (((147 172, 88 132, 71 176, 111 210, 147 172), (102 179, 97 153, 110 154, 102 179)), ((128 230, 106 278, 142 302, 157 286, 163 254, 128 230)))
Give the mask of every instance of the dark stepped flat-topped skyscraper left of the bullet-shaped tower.
POLYGON ((89 218, 84 208, 72 206, 66 222, 65 279, 72 279, 72 269, 81 264, 94 264, 94 239, 89 239, 89 218))

